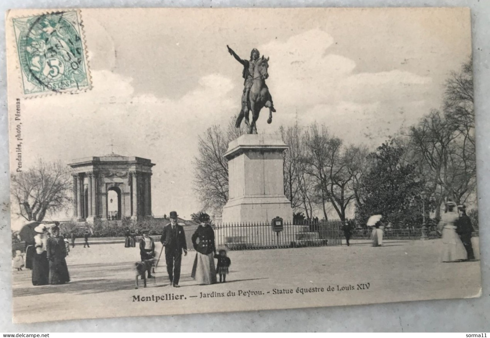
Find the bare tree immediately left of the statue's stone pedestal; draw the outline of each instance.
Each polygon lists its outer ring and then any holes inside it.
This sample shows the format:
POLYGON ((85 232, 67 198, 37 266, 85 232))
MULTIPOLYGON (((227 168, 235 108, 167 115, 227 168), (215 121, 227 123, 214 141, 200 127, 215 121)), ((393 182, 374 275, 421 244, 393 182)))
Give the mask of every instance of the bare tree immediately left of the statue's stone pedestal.
POLYGON ((225 128, 213 125, 199 136, 198 155, 194 158, 194 190, 203 210, 221 212, 228 200, 228 162, 223 157, 228 143, 244 134, 235 128, 234 119, 225 128))

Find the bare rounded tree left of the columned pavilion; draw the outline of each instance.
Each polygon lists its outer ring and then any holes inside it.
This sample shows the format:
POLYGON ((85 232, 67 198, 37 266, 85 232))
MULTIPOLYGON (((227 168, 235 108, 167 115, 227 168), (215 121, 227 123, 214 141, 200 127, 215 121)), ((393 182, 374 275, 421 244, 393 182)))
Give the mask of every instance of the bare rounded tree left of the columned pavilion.
POLYGON ((61 162, 39 160, 35 167, 11 175, 14 212, 26 220, 42 221, 71 202, 72 176, 61 162))

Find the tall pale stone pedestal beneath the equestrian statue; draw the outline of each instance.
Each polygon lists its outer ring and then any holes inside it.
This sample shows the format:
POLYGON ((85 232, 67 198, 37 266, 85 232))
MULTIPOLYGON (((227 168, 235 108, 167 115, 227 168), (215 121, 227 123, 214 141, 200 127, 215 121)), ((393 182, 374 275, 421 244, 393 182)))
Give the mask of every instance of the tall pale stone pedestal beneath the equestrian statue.
POLYGON ((291 202, 284 195, 283 152, 275 135, 246 134, 232 141, 228 160, 228 202, 222 222, 267 222, 276 216, 292 222, 291 202))

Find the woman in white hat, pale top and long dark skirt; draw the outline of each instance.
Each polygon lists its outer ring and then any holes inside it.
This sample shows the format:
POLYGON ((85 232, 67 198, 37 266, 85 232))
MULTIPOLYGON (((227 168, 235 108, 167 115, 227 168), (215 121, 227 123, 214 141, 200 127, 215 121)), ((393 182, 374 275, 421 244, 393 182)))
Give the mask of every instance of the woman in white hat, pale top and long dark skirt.
POLYGON ((32 259, 32 285, 47 285, 49 283, 49 262, 46 251, 48 228, 40 224, 34 231, 37 235, 34 236, 36 252, 32 259))

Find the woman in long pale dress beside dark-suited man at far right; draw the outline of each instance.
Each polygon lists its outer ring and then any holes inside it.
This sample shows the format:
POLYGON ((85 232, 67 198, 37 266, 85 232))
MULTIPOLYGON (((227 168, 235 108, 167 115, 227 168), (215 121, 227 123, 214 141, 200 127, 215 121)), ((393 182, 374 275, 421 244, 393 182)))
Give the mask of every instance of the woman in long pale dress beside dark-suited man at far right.
POLYGON ((441 216, 442 225, 442 262, 458 262, 466 260, 465 246, 456 233, 456 221, 459 218, 456 203, 447 202, 446 212, 441 216))

